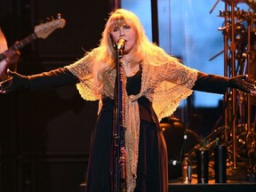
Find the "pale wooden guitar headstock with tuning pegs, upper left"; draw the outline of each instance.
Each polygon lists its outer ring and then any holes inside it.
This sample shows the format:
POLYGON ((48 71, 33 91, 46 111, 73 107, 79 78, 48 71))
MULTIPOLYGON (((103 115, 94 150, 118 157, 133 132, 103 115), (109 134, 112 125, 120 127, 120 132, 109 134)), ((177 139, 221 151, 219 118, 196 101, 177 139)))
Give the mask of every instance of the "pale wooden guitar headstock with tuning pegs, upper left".
POLYGON ((66 20, 60 18, 60 14, 58 14, 58 18, 55 20, 47 21, 41 25, 37 25, 34 29, 36 37, 38 38, 46 38, 57 28, 64 28, 66 25, 66 20))

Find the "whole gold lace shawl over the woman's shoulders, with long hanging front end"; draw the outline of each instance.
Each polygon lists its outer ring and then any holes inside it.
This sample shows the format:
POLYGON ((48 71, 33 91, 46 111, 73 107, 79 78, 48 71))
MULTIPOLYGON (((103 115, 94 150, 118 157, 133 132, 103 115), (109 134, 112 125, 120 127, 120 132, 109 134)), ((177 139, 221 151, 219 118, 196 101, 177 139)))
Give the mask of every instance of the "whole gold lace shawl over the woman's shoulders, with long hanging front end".
MULTIPOLYGON (((105 97, 113 99, 116 71, 113 70, 108 74, 103 94, 96 92, 93 81, 93 73, 96 71, 93 71, 92 67, 94 56, 91 52, 66 68, 80 79, 80 83, 76 86, 84 100, 100 100, 105 97)), ((166 63, 160 66, 142 62, 140 93, 129 97, 126 92, 124 93, 124 102, 126 103, 124 119, 126 127, 126 180, 127 191, 129 192, 133 191, 136 185, 138 163, 140 114, 137 100, 141 96, 147 97, 153 103, 156 116, 160 121, 164 116, 172 115, 179 106, 180 100, 186 99, 192 93, 191 88, 196 82, 196 69, 188 68, 170 56, 165 55, 164 57, 166 63)), ((100 108, 99 105, 99 110, 100 108)))

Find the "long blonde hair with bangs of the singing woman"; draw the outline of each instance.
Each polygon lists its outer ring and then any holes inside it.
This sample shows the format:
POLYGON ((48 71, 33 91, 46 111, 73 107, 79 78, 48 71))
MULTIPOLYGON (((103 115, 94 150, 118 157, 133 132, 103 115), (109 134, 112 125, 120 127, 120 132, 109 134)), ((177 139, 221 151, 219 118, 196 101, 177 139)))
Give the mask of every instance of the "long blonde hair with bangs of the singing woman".
POLYGON ((166 62, 167 54, 162 48, 148 40, 138 17, 133 12, 117 9, 109 14, 105 29, 101 34, 100 46, 94 49, 97 54, 93 61, 93 77, 99 92, 104 85, 104 78, 107 78, 108 72, 115 69, 116 66, 116 50, 110 31, 124 24, 135 31, 136 41, 132 49, 132 63, 141 61, 151 65, 159 65, 166 62))

